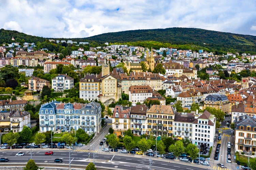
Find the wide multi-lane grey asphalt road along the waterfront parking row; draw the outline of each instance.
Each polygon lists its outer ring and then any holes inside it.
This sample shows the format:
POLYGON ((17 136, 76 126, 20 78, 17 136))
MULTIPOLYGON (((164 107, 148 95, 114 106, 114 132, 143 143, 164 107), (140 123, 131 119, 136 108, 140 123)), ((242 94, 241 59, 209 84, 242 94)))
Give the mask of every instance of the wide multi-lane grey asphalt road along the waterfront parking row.
MULTIPOLYGON (((50 164, 69 164, 69 153, 68 150, 53 150, 53 155, 44 155, 48 150, 32 150, 32 159, 35 163, 50 163, 50 164), (61 158, 63 163, 54 163, 54 159, 61 158)), ((97 167, 107 167, 115 169, 129 169, 129 170, 148 170, 150 169, 149 165, 149 156, 142 155, 128 155, 128 154, 105 154, 94 153, 95 155, 95 166, 97 167)), ((29 150, 4 150, 0 153, 0 157, 7 157, 10 159, 9 163, 27 163, 31 154, 29 150), (19 151, 24 152, 24 156, 15 156, 19 151)), ((90 162, 93 162, 93 154, 90 153, 77 153, 71 152, 71 165, 88 165, 90 162)), ((208 166, 202 165, 192 165, 189 162, 180 162, 179 160, 167 160, 165 158, 153 158, 153 164, 151 169, 160 170, 160 169, 170 169, 170 170, 205 170, 208 169, 208 166)))

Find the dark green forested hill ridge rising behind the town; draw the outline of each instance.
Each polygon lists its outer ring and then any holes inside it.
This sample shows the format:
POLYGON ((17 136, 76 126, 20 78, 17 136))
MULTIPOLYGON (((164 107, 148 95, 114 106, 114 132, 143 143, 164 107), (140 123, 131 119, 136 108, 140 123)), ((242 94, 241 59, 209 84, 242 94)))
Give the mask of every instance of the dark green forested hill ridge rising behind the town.
MULTIPOLYGON (((0 44, 11 43, 14 36, 16 42, 28 42, 35 44, 37 41, 45 41, 46 38, 30 36, 17 31, 0 30, 0 44)), ((179 49, 199 49, 208 52, 220 53, 246 52, 256 54, 256 36, 232 34, 218 31, 210 31, 196 28, 166 28, 150 30, 131 30, 113 33, 104 33, 87 38, 47 38, 58 40, 73 40, 77 42, 89 42, 90 46, 101 46, 108 42, 111 44, 127 44, 142 47, 172 47, 179 49)))

